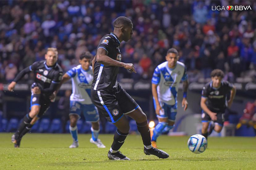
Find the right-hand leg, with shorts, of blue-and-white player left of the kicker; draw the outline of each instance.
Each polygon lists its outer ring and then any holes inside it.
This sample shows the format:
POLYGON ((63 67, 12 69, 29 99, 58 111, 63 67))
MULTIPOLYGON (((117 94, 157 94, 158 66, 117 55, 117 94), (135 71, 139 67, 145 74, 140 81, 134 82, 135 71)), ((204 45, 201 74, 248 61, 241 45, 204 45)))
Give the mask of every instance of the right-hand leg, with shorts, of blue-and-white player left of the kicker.
POLYGON ((83 115, 86 121, 92 123, 91 132, 92 138, 90 142, 92 144, 96 144, 98 148, 106 148, 105 145, 98 139, 99 132, 100 132, 100 116, 98 109, 94 106, 94 104, 84 104, 83 106, 83 115))

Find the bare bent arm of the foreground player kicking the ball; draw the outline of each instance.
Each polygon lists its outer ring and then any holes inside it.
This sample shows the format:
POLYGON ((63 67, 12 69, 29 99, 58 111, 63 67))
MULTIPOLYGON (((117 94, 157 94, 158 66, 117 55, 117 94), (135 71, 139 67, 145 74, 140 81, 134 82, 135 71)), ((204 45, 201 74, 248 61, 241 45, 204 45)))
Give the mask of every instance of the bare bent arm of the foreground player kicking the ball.
POLYGON ((96 61, 98 63, 107 65, 107 66, 116 66, 116 67, 124 67, 127 70, 131 70, 136 73, 134 65, 131 63, 122 63, 116 60, 111 59, 109 56, 106 55, 106 50, 103 48, 98 48, 96 54, 96 61))

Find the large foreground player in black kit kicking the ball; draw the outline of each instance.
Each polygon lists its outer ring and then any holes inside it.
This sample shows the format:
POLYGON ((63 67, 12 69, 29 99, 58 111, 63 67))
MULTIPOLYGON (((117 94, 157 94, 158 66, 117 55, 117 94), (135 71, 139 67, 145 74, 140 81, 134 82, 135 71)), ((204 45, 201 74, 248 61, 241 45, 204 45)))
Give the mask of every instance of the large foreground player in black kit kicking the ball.
POLYGON ((121 62, 122 56, 119 50, 120 42, 127 42, 132 38, 133 24, 129 18, 118 17, 113 22, 113 27, 113 33, 101 38, 96 56, 92 60, 94 70, 91 87, 92 102, 108 121, 117 127, 108 158, 110 160, 130 160, 118 151, 124 144, 130 129, 129 122, 123 115, 130 116, 136 121, 146 155, 168 158, 169 155, 166 152, 152 147, 147 116, 134 99, 117 83, 119 67, 136 73, 133 64, 121 62))

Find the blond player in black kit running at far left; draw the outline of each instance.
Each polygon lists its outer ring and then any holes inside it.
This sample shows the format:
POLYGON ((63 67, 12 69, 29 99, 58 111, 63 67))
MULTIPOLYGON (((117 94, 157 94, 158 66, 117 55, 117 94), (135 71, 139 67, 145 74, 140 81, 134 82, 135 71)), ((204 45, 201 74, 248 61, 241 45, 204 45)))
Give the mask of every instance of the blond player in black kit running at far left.
POLYGON ((15 148, 19 148, 22 136, 30 131, 34 123, 45 113, 50 105, 50 95, 58 87, 62 78, 62 68, 56 63, 58 51, 56 48, 48 48, 45 60, 33 63, 23 69, 8 86, 13 91, 16 83, 27 73, 33 71, 36 74, 35 82, 31 86, 30 112, 24 116, 15 134, 11 137, 15 148))

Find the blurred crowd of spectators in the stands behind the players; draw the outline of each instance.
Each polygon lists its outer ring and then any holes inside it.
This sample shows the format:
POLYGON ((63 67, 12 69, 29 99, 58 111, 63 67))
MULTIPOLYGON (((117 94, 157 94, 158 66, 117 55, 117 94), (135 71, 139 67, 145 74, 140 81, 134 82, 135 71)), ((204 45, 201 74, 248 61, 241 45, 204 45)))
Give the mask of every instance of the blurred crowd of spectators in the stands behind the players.
MULTIPOLYGON (((83 51, 96 53, 99 40, 113 31, 118 16, 130 18, 134 35, 122 42, 122 62, 134 63, 137 74, 120 69, 119 79, 150 80, 169 48, 179 51, 190 82, 205 80, 219 68, 231 82, 255 79, 256 2, 252 10, 212 10, 226 1, 0 1, 0 82, 56 47, 64 71, 78 64, 83 51)), ((24 77, 27 81, 33 73, 24 77)))

